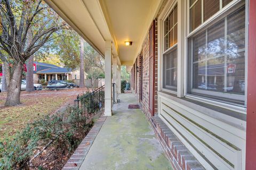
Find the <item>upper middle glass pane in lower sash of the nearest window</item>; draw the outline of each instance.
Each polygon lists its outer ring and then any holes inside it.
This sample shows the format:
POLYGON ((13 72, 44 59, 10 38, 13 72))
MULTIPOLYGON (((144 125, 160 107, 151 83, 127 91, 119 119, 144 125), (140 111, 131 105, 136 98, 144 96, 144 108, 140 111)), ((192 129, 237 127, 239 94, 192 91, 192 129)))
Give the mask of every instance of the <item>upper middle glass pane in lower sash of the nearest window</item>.
POLYGON ((207 57, 225 54, 225 20, 207 30, 207 57))

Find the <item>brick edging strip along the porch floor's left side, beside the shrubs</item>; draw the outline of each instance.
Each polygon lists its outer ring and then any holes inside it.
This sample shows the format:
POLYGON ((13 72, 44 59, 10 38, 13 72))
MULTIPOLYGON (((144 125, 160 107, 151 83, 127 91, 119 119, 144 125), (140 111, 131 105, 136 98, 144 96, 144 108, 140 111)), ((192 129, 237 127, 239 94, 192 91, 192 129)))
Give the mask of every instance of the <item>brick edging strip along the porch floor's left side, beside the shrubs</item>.
POLYGON ((92 129, 90 132, 86 135, 86 137, 82 140, 80 145, 77 147, 77 149, 74 151, 73 155, 69 158, 68 162, 63 166, 63 170, 69 170, 69 169, 79 169, 89 152, 93 141, 97 137, 103 123, 106 121, 107 116, 104 116, 103 112, 100 113, 101 116, 98 118, 98 120, 94 123, 92 129))

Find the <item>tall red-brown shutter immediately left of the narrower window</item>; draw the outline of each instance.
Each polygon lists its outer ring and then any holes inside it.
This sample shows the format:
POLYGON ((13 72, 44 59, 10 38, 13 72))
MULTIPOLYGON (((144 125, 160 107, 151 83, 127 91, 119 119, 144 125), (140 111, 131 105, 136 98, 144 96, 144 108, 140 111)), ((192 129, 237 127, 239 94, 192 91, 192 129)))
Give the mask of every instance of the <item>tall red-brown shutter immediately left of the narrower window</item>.
POLYGON ((155 21, 149 30, 149 112, 155 112, 155 21))

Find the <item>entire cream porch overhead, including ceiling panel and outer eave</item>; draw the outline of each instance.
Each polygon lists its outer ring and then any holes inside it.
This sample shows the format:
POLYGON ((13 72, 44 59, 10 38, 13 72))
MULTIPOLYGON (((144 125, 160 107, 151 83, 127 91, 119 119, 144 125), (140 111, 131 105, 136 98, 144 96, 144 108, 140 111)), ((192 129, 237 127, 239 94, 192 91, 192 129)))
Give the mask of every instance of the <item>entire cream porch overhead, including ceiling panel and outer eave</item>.
POLYGON ((113 55, 132 65, 163 0, 45 0, 102 56, 105 40, 113 42, 113 55), (124 41, 132 41, 125 46, 124 41))

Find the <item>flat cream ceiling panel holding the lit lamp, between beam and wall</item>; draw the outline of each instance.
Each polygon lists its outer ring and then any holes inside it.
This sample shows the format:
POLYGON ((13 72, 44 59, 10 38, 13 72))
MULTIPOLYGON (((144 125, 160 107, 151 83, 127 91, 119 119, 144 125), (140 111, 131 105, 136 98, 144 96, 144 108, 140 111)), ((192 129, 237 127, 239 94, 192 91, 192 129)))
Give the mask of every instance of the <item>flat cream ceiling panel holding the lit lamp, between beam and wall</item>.
POLYGON ((99 0, 122 65, 132 65, 162 0, 99 0), (124 41, 132 41, 125 46, 124 41))

